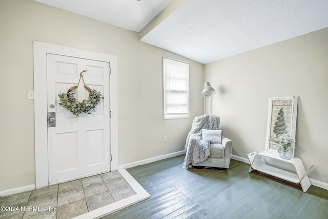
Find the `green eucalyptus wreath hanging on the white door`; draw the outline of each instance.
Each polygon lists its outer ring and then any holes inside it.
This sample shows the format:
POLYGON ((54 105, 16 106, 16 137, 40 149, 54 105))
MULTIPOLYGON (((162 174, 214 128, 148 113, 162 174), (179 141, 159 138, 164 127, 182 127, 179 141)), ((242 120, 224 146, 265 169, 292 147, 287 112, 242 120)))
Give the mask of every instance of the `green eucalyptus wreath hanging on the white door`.
POLYGON ((100 102, 100 99, 104 99, 104 97, 101 96, 102 94, 100 94, 100 91, 90 89, 89 97, 81 102, 78 102, 76 99, 76 88, 74 88, 72 90, 68 90, 67 93, 59 92, 59 106, 71 111, 76 117, 83 112, 91 114, 89 111, 95 111, 94 109, 100 102))

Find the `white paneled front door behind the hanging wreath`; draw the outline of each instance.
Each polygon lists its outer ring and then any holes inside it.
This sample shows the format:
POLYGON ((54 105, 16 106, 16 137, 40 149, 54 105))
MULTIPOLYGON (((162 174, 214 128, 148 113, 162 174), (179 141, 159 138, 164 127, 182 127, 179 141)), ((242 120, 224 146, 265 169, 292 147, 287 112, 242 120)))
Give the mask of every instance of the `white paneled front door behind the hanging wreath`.
MULTIPOLYGON (((81 79, 77 101, 89 92, 81 79)), ((108 62, 47 54, 47 109, 49 185, 110 171, 110 64, 108 62), (59 106, 58 93, 77 85, 80 72, 91 89, 100 91, 101 99, 91 114, 78 117, 59 106), (55 116, 54 116, 55 114, 55 116), (54 127, 49 127, 54 125, 54 127)))

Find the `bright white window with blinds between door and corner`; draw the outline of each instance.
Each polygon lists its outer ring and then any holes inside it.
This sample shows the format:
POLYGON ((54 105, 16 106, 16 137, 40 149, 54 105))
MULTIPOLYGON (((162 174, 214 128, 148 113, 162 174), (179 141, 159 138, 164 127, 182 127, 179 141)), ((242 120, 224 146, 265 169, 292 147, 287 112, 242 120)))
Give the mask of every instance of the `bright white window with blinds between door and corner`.
POLYGON ((189 118, 189 63, 163 57, 163 88, 163 118, 189 118))

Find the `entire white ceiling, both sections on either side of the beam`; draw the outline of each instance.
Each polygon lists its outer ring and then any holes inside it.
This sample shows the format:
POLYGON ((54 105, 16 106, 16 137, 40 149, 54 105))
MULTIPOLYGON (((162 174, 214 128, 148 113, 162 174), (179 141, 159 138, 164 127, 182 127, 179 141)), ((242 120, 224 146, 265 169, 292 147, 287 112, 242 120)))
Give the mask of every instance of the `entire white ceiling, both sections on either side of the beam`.
POLYGON ((140 41, 202 64, 328 27, 327 0, 35 1, 136 32, 148 29, 140 41), (174 8, 177 2, 182 6, 174 8), (168 5, 158 25, 147 25, 168 5))

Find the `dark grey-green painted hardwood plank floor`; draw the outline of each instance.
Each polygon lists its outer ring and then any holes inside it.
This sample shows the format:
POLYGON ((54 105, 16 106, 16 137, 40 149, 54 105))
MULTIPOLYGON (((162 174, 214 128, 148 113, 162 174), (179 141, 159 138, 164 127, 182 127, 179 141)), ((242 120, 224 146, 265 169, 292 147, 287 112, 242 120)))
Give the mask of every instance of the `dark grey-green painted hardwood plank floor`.
POLYGON ((328 218, 328 190, 304 193, 231 160, 229 169, 182 169, 184 155, 127 169, 151 197, 103 218, 328 218))

